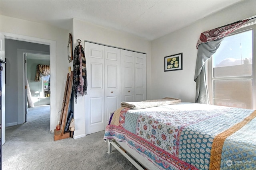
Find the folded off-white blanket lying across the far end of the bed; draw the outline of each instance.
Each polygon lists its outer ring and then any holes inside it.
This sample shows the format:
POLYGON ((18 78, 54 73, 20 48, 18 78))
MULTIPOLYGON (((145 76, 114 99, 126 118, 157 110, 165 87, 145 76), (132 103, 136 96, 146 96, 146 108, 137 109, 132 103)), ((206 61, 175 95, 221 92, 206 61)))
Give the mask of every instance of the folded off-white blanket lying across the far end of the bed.
POLYGON ((121 102, 121 106, 129 107, 131 109, 144 109, 148 107, 178 104, 180 102, 181 100, 176 98, 163 98, 163 99, 155 99, 155 100, 144 100, 141 102, 121 102))

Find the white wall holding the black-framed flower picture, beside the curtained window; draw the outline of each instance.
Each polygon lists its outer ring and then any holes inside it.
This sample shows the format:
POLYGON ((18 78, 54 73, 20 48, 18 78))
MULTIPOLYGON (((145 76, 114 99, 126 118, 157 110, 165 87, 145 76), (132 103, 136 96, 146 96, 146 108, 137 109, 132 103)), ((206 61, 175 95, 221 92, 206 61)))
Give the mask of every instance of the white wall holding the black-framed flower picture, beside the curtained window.
POLYGON ((256 15, 256 1, 242 1, 192 25, 151 42, 152 98, 174 97, 195 102, 196 43, 203 31, 256 15), (183 70, 164 72, 164 57, 183 53, 183 70))

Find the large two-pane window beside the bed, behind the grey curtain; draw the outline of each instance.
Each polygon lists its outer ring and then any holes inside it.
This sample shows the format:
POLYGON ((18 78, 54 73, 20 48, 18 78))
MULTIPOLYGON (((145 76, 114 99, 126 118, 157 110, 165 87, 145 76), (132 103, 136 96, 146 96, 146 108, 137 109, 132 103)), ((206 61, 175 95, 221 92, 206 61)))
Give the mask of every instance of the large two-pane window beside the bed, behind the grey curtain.
POLYGON ((208 62, 210 103, 218 106, 255 108, 255 25, 226 37, 208 62))

